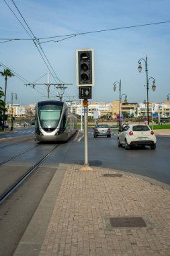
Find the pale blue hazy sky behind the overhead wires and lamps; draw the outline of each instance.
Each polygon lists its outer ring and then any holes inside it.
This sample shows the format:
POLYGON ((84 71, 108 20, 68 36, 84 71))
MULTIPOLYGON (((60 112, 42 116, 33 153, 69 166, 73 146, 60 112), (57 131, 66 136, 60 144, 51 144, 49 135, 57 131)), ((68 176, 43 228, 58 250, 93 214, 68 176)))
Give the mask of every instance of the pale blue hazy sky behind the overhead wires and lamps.
MULTIPOLYGON (((15 74, 7 79, 6 101, 11 102, 12 92, 17 94, 13 104, 47 100, 47 73, 50 84, 66 84, 62 100, 79 100, 75 52, 94 49, 95 86, 90 101, 119 100, 118 83, 115 92, 113 87, 121 79, 121 94, 128 96, 128 102, 143 102, 147 55, 148 78, 154 77, 157 86, 153 92, 149 80, 148 100, 165 102, 170 93, 169 9, 169 0, 1 0, 0 71, 8 68, 15 74), (138 26, 159 22, 165 23, 138 26), (99 30, 108 31, 81 34, 99 30), (140 59, 144 59, 141 73, 140 59), (33 82, 34 88, 26 86, 33 82)), ((4 90, 1 75, 0 86, 4 90)), ((51 85, 50 99, 58 100, 57 94, 51 85)))

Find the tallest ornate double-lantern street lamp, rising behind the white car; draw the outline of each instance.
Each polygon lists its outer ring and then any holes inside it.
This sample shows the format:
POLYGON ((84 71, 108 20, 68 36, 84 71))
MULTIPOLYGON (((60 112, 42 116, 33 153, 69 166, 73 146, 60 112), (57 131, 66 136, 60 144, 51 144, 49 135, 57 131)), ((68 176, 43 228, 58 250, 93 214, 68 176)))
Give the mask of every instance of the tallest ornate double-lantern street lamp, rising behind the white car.
POLYGON ((150 79, 153 79, 153 86, 152 86, 153 92, 155 91, 156 86, 155 86, 155 79, 154 79, 153 77, 148 78, 148 58, 147 58, 147 55, 146 55, 146 59, 140 59, 140 60, 138 61, 138 64, 139 64, 139 65, 138 65, 138 71, 139 71, 139 72, 142 71, 141 60, 144 61, 144 63, 145 63, 145 71, 146 71, 147 122, 148 122, 148 125, 149 125, 149 118, 148 118, 148 90, 149 90, 149 80, 150 80, 150 79))

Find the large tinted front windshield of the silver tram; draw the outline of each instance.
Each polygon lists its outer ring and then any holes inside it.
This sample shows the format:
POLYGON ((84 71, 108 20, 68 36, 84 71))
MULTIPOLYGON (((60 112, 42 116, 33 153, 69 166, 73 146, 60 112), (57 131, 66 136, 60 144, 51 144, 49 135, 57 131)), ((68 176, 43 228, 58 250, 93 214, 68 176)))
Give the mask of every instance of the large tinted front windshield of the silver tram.
POLYGON ((46 105, 38 108, 42 129, 56 129, 60 120, 62 106, 46 105))

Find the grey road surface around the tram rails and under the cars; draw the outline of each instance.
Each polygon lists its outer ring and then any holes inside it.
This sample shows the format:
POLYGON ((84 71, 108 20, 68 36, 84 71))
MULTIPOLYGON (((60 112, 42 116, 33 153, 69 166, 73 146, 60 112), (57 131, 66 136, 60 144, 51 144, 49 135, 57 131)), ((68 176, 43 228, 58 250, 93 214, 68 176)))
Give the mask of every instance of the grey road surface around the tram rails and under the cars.
MULTIPOLYGON (((117 133, 113 132, 111 138, 97 137, 95 139, 93 130, 89 129, 88 137, 91 166, 141 174, 170 185, 170 136, 157 136, 156 150, 136 148, 129 151, 118 148, 117 133)), ((32 148, 22 156, 13 158, 1 166, 0 185, 2 188, 5 183, 12 181, 16 174, 34 165, 34 162, 41 158, 48 148, 54 146, 51 143, 43 144, 34 141, 34 127, 1 133, 0 143, 0 162, 32 148), (36 145, 38 146, 34 148, 36 145)), ((31 177, 0 205, 0 255, 13 254, 60 163, 84 164, 83 138, 60 143, 58 148, 32 173, 31 177)))

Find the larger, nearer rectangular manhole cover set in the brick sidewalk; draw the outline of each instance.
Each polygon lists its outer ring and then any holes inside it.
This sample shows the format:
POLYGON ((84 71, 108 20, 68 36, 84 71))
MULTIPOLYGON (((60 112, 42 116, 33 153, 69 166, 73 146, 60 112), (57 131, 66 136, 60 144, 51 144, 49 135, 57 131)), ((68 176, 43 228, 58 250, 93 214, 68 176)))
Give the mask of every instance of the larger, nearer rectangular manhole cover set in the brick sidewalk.
POLYGON ((146 223, 141 217, 114 217, 110 218, 112 228, 142 228, 146 223))

